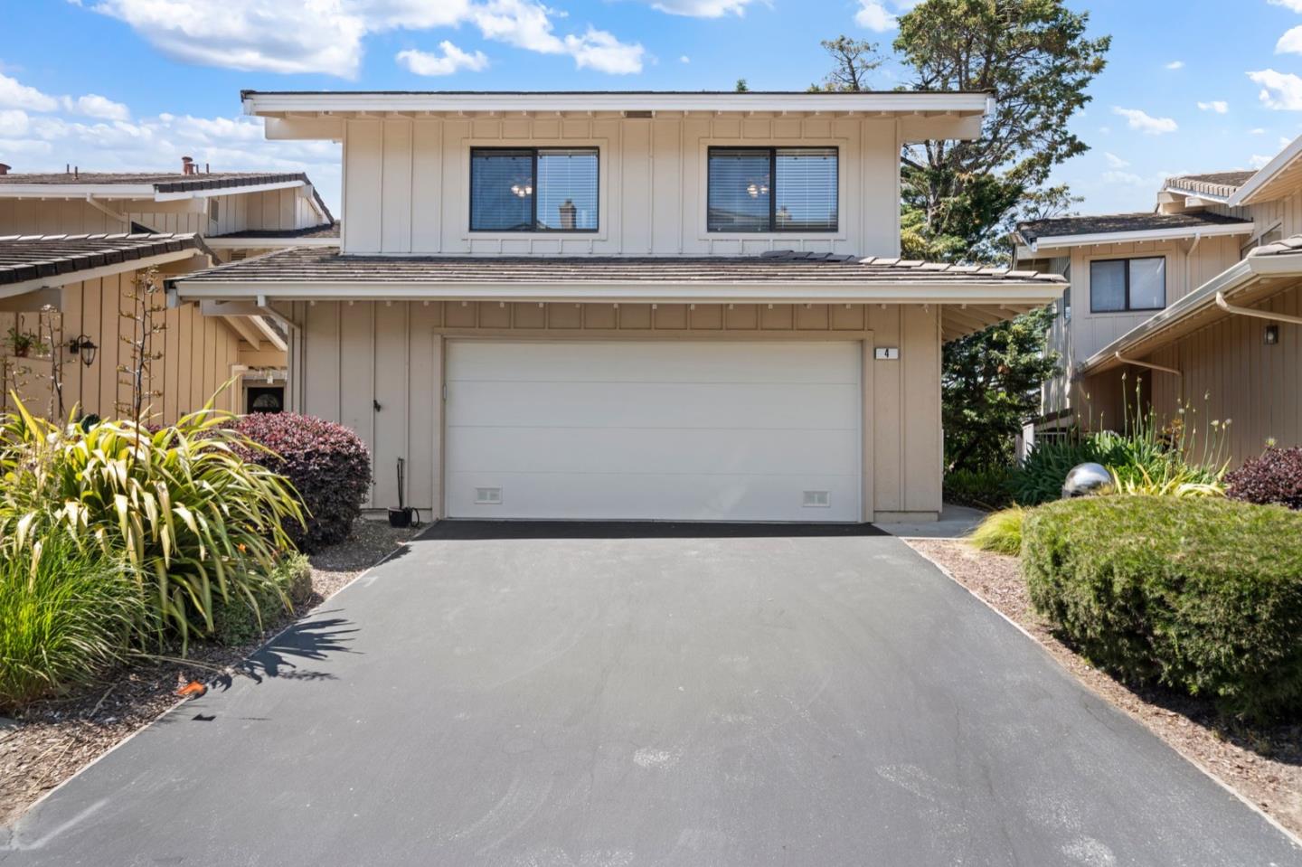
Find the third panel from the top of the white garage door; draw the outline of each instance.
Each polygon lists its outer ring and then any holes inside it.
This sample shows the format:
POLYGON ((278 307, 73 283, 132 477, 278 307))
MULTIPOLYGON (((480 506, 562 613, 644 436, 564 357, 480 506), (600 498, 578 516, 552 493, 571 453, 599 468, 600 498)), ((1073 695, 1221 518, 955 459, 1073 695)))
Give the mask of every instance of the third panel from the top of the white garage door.
POLYGON ((452 428, 457 469, 482 473, 755 473, 835 475, 853 467, 855 430, 452 428))

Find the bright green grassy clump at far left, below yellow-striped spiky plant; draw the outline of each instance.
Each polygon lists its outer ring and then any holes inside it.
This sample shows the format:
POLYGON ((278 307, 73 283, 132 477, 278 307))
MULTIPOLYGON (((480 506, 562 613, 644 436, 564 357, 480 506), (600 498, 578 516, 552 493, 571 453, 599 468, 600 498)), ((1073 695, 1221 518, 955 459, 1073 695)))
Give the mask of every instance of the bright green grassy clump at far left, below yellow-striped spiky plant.
POLYGON ((0 557, 0 711, 120 661, 143 608, 135 573, 66 536, 0 557))

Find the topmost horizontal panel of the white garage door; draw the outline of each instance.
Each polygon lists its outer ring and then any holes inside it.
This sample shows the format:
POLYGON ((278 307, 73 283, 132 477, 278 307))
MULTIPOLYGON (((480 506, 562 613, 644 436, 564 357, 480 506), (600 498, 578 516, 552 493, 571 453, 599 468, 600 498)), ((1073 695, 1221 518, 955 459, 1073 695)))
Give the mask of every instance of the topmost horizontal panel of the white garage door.
POLYGON ((835 372, 835 381, 855 384, 858 351, 857 344, 840 341, 462 341, 449 358, 448 383, 519 381, 522 375, 535 381, 818 383, 835 372))

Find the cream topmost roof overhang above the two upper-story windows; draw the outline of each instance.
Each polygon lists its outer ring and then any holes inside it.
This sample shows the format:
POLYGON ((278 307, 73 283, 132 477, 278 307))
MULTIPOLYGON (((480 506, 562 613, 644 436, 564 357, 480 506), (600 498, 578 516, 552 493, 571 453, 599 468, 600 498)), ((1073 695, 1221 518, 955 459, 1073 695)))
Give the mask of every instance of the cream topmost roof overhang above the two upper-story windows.
POLYGON ((652 118, 687 115, 828 116, 900 121, 902 141, 971 139, 993 111, 986 92, 461 92, 245 91, 243 111, 267 118, 267 138, 344 137, 345 120, 484 116, 652 118))

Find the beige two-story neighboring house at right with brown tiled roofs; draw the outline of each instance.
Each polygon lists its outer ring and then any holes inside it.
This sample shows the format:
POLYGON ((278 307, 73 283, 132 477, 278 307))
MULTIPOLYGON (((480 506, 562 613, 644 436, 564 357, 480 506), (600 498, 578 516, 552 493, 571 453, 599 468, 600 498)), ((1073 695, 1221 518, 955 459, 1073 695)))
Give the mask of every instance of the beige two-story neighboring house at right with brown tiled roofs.
POLYGON ((1150 213, 1018 225, 1018 267, 1072 282, 1049 335, 1064 374, 1044 388, 1042 432, 1186 407, 1200 435, 1232 422, 1234 462, 1267 440, 1302 444, 1299 156, 1302 139, 1258 172, 1169 178, 1150 213))

